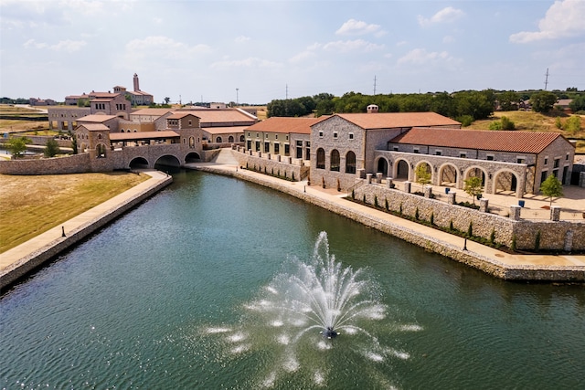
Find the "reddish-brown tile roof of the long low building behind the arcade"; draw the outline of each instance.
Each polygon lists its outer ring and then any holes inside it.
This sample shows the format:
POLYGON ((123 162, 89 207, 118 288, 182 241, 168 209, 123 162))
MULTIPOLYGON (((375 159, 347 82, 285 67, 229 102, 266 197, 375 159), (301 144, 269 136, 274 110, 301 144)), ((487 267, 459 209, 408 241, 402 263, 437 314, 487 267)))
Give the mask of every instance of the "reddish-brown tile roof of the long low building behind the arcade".
POLYGON ((503 132, 414 128, 390 142, 512 153, 540 153, 562 137, 557 132, 503 132))

